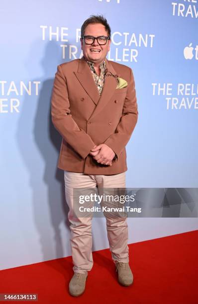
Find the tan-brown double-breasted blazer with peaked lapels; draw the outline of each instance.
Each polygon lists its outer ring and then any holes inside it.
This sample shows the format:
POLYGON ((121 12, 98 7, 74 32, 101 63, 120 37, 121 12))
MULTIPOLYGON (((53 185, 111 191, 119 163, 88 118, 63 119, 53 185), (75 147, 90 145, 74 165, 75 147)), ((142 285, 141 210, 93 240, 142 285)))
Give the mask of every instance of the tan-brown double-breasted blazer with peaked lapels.
POLYGON ((111 175, 127 170, 126 150, 138 118, 131 68, 106 59, 101 96, 84 57, 57 67, 51 99, 52 122, 62 136, 58 168, 111 175), (128 82, 116 88, 117 75, 128 82), (90 151, 106 144, 116 154, 112 166, 99 164, 90 151))

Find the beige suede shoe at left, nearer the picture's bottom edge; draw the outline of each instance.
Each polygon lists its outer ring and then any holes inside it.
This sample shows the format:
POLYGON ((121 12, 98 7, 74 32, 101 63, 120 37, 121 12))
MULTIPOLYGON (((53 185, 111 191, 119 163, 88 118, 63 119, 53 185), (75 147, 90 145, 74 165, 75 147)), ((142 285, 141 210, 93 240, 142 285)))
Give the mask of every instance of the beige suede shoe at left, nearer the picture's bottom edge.
POLYGON ((69 292, 71 296, 78 297, 84 293, 87 276, 88 274, 79 272, 74 273, 69 284, 69 292))

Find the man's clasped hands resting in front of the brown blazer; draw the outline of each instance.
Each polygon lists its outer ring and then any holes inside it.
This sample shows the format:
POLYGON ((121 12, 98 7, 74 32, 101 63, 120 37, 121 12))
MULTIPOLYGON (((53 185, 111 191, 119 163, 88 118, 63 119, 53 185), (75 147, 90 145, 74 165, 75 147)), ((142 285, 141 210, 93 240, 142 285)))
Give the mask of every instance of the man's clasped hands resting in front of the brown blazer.
POLYGON ((115 156, 115 152, 105 144, 101 144, 99 146, 94 146, 94 148, 90 151, 90 154, 93 158, 105 165, 112 165, 112 159, 115 156))

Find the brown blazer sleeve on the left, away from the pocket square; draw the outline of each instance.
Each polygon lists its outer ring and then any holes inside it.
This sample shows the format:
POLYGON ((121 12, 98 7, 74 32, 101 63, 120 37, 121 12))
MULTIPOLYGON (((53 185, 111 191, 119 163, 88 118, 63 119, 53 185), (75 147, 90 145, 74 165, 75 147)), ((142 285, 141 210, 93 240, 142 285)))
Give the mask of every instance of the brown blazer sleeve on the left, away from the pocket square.
POLYGON ((52 123, 64 140, 84 159, 95 143, 91 137, 78 127, 72 114, 68 98, 67 80, 61 66, 57 67, 51 98, 52 123))

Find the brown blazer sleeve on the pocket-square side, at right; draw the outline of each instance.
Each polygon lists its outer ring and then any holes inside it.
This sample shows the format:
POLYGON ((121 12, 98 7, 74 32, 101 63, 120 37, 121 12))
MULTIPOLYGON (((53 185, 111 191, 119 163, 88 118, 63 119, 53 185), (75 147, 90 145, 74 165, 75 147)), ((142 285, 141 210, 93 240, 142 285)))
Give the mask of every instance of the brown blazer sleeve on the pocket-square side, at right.
POLYGON ((116 127, 115 133, 110 135, 104 142, 104 144, 115 152, 117 158, 119 158, 119 154, 124 150, 137 123, 137 108, 135 81, 133 72, 130 69, 129 84, 123 105, 122 116, 116 127))

